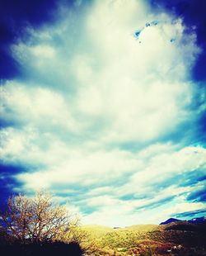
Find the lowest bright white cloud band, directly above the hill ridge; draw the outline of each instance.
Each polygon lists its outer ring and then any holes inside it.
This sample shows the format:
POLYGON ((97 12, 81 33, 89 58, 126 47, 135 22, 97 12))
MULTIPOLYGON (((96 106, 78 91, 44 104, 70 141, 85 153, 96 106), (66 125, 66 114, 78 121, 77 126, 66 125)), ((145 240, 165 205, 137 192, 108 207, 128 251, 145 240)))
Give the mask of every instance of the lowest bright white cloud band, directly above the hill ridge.
POLYGON ((142 201, 120 201, 105 196, 91 198, 90 206, 99 206, 99 208, 85 216, 83 221, 84 224, 98 223, 123 227, 133 224, 159 224, 181 212, 204 210, 203 202, 188 202, 184 197, 178 197, 179 193, 190 191, 190 189, 190 187, 168 188, 157 198, 142 201), (176 199, 174 200, 169 197, 175 195, 176 199), (164 198, 169 199, 160 205, 150 207, 164 198), (140 206, 142 207, 139 208, 140 206))

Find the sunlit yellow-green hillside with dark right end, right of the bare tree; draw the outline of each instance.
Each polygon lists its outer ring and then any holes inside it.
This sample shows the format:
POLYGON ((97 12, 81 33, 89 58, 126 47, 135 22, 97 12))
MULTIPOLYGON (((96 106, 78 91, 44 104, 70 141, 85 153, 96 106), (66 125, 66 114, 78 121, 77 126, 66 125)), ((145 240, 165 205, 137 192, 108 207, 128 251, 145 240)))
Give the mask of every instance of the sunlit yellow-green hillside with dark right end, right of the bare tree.
POLYGON ((206 255, 205 223, 173 221, 166 225, 110 228, 85 225, 92 240, 86 255, 206 255))

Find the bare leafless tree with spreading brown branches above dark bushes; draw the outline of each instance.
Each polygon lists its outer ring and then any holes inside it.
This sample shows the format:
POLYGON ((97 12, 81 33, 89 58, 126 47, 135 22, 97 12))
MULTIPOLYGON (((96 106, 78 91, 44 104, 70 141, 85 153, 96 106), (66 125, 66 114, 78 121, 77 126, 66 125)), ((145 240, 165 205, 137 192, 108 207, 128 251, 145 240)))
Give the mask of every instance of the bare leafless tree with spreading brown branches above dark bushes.
POLYGON ((0 218, 2 227, 22 242, 57 238, 69 230, 71 216, 66 207, 55 205, 52 199, 44 192, 37 192, 35 197, 9 197, 0 218))

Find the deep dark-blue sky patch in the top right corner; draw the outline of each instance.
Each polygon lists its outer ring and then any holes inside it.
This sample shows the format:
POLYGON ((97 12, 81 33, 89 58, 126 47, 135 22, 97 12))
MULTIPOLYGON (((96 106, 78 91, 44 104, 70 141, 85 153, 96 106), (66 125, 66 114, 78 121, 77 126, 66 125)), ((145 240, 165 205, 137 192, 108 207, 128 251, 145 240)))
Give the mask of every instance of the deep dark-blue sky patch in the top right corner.
POLYGON ((206 2, 204 0, 151 0, 152 7, 158 11, 162 9, 171 12, 176 17, 181 17, 188 27, 188 31, 194 29, 197 34, 197 43, 203 49, 196 61, 193 69, 194 80, 202 81, 206 79, 204 72, 206 66, 206 2))

